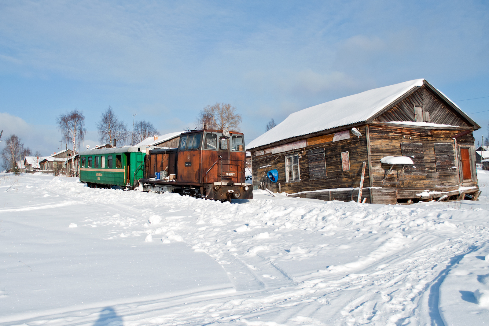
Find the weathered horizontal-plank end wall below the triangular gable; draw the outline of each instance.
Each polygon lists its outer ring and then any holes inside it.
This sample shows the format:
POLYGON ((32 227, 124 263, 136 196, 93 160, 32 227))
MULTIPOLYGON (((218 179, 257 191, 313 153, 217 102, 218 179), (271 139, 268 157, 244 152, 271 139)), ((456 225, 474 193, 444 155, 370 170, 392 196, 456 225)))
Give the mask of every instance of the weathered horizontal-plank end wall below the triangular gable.
MULTIPOLYGON (((373 186, 383 187, 385 191, 388 190, 385 188, 397 188, 398 198, 414 198, 414 193, 422 192, 424 189, 446 191, 458 188, 458 171, 456 168, 452 168, 457 164, 452 138, 460 130, 435 130, 378 123, 369 125, 369 131, 373 186), (415 167, 405 169, 404 175, 397 181, 401 166, 395 165, 395 168, 383 182, 390 165, 380 163, 380 159, 388 155, 403 156, 404 154, 405 156, 406 153, 403 153, 402 149, 408 143, 416 144, 422 148, 422 155, 421 153, 413 155, 415 156, 413 158, 415 167), (437 154, 435 154, 435 144, 437 144, 437 154), (452 154, 451 157, 450 154, 452 154), (450 158, 453 161, 451 164, 447 164, 446 161, 450 158), (438 169, 437 161, 439 163, 438 169), (445 166, 441 166, 442 163, 445 166)), ((458 145, 473 146, 472 133, 459 138, 457 143, 458 145)), ((464 186, 475 185, 475 180, 464 183, 464 186)))

